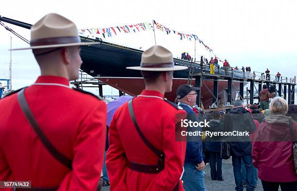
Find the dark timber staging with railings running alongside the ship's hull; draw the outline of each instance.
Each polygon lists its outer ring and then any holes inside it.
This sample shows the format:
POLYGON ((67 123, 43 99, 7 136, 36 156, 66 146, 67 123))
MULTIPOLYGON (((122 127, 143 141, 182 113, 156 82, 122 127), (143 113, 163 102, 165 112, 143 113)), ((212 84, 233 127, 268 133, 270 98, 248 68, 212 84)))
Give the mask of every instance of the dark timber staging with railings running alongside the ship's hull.
MULTIPOLYGON (((227 67, 217 67, 211 74, 210 65, 205 64, 202 57, 201 61, 196 62, 192 60, 189 67, 188 84, 192 84, 193 79, 195 79, 195 86, 200 88, 198 90, 197 105, 199 107, 203 106, 201 102, 201 87, 204 85, 207 91, 212 95, 213 103, 218 103, 218 92, 219 81, 227 80, 228 87, 225 89, 227 92, 227 102, 232 104, 232 89, 236 90, 238 93, 238 98, 241 100, 247 100, 247 104, 253 104, 254 99, 258 99, 260 102, 259 92, 262 90, 262 84, 267 84, 274 86, 275 96, 281 96, 288 101, 288 104, 295 103, 295 85, 296 77, 288 79, 287 77, 281 76, 278 78, 275 75, 270 75, 269 78, 265 76, 264 73, 256 71, 242 71, 238 69, 227 68, 227 67), (272 80, 273 79, 273 80, 272 80), (274 80, 275 79, 275 80, 274 80), (203 80, 213 80, 214 88, 213 91, 207 87, 203 80), (239 90, 236 89, 234 82, 239 82, 239 90), (244 86, 249 83, 249 89, 247 88, 247 95, 244 96, 244 86), (256 87, 257 85, 257 87, 256 87), (254 91, 256 90, 256 92, 254 91), (288 91, 288 96, 287 96, 288 91)), ((193 84, 194 85, 194 84, 193 84)), ((224 94, 225 95, 225 94, 224 94)), ((227 104, 228 105, 228 104, 227 104)), ((229 105, 228 105, 229 106, 229 105)), ((227 108, 227 107, 226 107, 227 108)))

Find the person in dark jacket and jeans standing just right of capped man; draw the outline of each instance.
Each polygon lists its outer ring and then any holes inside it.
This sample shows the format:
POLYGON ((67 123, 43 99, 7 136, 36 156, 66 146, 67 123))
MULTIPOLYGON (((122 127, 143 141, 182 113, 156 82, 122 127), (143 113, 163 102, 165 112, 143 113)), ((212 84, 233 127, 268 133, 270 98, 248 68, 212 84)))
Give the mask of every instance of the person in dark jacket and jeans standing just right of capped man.
MULTIPOLYGON (((220 112, 213 111, 211 120, 208 124, 210 132, 222 132, 224 124, 220 121, 220 112)), ((210 167, 212 180, 224 180, 222 177, 222 158, 221 158, 222 136, 212 136, 207 138, 206 148, 210 153, 210 167), (216 165, 216 167, 215 167, 216 165)))

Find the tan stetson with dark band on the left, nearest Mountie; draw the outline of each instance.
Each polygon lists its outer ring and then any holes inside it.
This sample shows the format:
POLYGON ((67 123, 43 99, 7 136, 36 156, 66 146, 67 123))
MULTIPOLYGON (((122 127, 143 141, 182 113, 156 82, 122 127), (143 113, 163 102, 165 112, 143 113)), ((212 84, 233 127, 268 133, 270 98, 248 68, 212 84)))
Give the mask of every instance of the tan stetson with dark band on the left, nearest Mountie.
POLYGON ((56 13, 49 13, 31 27, 31 47, 14 48, 12 50, 56 48, 90 44, 100 43, 82 43, 76 25, 71 20, 56 13))

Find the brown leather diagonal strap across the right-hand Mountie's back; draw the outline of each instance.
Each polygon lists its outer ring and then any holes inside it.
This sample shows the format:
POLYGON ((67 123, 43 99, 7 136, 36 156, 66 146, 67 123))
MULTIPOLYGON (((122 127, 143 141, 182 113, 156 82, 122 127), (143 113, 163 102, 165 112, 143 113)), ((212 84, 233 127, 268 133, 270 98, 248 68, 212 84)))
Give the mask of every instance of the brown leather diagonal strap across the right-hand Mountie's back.
MULTIPOLYGON (((133 98, 134 99, 134 98, 133 98)), ((148 146, 148 148, 155 153, 159 158, 164 159, 164 153, 162 151, 160 151, 159 149, 157 149, 153 144, 151 144, 148 139, 144 136, 144 134, 142 133, 140 127, 138 126, 135 114, 134 114, 134 110, 133 110, 133 99, 130 99, 128 101, 128 109, 129 109, 129 113, 130 113, 130 117, 132 119, 132 122, 134 124, 134 127, 137 130, 137 133, 139 134, 140 138, 142 139, 142 141, 148 146)))

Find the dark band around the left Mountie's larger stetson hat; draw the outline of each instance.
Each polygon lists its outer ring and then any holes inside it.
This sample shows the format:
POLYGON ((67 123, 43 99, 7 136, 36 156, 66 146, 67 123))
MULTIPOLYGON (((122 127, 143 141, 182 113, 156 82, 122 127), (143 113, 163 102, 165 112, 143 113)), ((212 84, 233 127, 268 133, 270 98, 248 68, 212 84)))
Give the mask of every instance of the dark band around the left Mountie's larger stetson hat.
POLYGON ((80 42, 81 42, 81 39, 79 36, 65 36, 65 37, 31 39, 30 45, 31 47, 33 47, 33 46, 59 45, 59 44, 70 44, 70 43, 80 43, 80 42))

